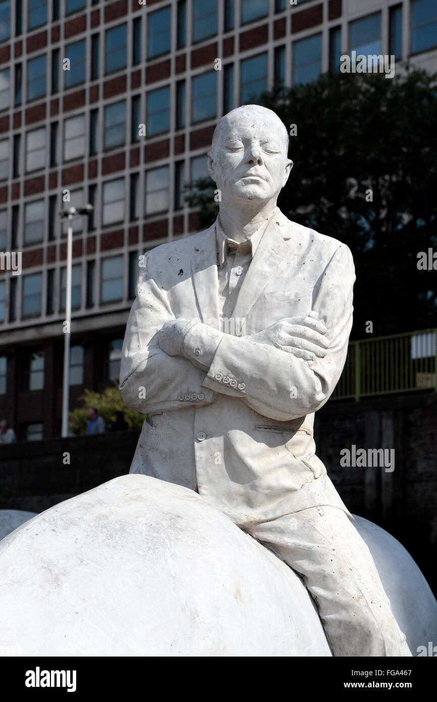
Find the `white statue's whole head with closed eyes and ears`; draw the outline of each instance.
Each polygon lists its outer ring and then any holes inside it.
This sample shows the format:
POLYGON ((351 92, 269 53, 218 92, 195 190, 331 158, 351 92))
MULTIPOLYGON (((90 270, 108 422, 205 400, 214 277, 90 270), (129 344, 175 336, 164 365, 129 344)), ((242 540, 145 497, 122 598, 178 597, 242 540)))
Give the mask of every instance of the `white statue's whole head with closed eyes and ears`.
POLYGON ((278 115, 261 105, 243 105, 217 123, 208 171, 222 202, 276 201, 293 168, 288 133, 278 115))

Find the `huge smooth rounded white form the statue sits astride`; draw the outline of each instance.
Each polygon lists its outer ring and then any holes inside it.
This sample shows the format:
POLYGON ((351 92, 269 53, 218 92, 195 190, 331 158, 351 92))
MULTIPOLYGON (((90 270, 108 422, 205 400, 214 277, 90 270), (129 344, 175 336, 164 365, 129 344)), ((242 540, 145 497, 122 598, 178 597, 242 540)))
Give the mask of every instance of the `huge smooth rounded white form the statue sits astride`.
MULTIPOLYGON (((368 544, 413 656, 437 602, 396 539, 368 544)), ((330 656, 285 563, 195 492, 125 475, 42 512, 0 542, 6 656, 330 656)))

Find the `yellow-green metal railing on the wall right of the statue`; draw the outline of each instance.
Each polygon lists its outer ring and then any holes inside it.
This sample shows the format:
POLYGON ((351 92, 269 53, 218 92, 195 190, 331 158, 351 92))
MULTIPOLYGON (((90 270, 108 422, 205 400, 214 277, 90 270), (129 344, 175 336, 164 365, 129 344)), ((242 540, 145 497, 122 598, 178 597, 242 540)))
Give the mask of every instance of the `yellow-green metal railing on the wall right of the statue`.
POLYGON ((437 329, 351 341, 332 399, 437 390, 437 329))

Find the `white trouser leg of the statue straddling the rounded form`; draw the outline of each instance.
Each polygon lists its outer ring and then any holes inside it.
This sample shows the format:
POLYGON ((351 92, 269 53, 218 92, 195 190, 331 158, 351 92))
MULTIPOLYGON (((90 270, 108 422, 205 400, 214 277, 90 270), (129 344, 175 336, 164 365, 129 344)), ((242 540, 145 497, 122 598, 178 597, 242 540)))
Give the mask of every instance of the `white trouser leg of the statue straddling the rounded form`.
POLYGON ((334 656, 411 656, 370 551, 335 507, 245 527, 302 576, 334 656))

